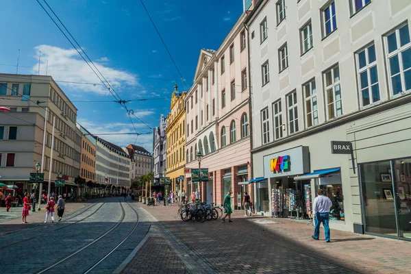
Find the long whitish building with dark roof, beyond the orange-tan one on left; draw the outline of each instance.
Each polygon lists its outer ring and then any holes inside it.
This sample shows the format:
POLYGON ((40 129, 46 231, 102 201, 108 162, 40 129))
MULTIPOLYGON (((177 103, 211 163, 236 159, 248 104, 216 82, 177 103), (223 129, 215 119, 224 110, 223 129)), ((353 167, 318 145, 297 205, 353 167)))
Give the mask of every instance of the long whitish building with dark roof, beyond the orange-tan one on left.
MULTIPOLYGON (((96 142, 96 181, 112 187, 130 187, 130 159, 121 147, 93 136, 96 142)), ((123 190, 121 190, 123 191, 123 190)))

